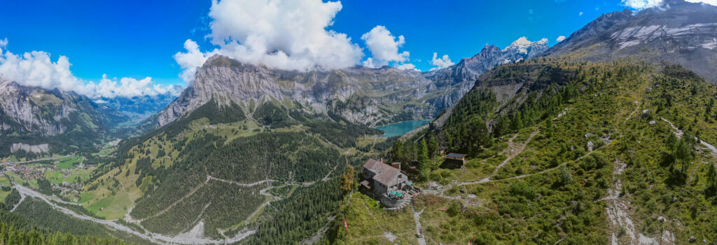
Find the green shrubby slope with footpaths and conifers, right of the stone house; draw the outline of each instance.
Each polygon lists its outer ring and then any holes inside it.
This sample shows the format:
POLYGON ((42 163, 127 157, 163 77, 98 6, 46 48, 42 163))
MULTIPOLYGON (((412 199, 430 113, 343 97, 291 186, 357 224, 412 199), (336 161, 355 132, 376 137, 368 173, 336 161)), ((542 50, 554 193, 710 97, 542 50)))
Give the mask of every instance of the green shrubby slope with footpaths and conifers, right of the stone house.
MULTIPOLYGON (((716 94, 678 65, 538 58, 480 76, 445 124, 394 145, 391 158, 427 168, 416 178, 440 185, 414 200, 429 244, 709 243, 716 94), (422 163, 435 154, 422 140, 467 153, 465 169, 422 163)), ((346 219, 366 215, 361 200, 346 219)), ((383 222, 391 219, 405 217, 383 222)), ((335 231, 348 241, 380 236, 335 231)))

